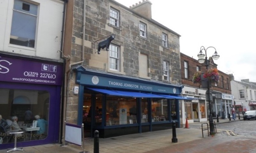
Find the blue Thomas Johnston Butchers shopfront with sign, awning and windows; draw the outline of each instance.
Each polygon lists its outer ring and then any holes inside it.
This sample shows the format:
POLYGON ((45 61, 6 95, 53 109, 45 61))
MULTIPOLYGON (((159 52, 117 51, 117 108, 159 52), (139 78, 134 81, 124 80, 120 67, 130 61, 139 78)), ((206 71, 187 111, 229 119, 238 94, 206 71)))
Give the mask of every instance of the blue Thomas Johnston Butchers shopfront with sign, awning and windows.
POLYGON ((78 125, 102 138, 179 127, 182 86, 76 68, 78 125))

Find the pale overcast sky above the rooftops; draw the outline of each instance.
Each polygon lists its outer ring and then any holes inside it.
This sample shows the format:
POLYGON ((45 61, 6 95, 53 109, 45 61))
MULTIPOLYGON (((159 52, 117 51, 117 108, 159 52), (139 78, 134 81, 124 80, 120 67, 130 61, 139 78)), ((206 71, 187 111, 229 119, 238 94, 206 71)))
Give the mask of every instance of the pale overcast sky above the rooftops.
MULTIPOLYGON (((142 0, 116 0, 124 6, 142 0)), ((150 0, 152 18, 181 35, 180 52, 195 59, 200 47, 215 47, 218 69, 236 81, 256 82, 255 0, 150 0)), ((207 50, 212 56, 213 48, 207 50)))

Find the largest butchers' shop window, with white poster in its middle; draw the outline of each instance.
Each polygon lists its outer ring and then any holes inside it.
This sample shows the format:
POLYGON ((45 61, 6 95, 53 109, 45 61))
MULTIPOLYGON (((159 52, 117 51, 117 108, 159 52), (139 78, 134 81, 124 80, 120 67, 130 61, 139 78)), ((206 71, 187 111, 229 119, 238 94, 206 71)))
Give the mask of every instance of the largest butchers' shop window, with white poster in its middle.
POLYGON ((136 124, 137 99, 107 96, 106 125, 136 124))

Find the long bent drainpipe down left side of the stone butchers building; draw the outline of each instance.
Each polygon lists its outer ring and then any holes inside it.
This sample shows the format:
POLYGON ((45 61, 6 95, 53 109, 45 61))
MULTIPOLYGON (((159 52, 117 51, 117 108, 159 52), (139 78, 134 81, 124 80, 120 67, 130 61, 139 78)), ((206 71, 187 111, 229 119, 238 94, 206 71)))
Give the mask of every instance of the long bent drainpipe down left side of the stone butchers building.
POLYGON ((85 7, 86 7, 86 0, 84 0, 84 17, 83 17, 83 41, 82 41, 82 60, 79 61, 79 62, 75 62, 75 63, 70 63, 69 66, 68 66, 68 71, 65 73, 64 75, 64 104, 63 104, 63 121, 62 121, 62 146, 65 146, 65 122, 66 122, 66 109, 67 109, 67 103, 68 103, 68 98, 67 98, 67 95, 68 95, 68 85, 67 85, 67 82, 69 80, 69 73, 70 73, 70 70, 72 68, 72 66, 74 65, 77 65, 77 64, 82 64, 84 62, 84 35, 85 35, 85 7))

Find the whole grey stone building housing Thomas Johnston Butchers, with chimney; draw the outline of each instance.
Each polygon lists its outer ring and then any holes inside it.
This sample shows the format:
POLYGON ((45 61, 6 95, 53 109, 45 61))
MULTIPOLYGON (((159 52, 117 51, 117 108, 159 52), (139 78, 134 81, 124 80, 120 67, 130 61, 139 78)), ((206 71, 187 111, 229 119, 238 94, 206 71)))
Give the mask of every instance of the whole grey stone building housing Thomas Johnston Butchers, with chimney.
POLYGON ((179 38, 151 18, 148 0, 130 8, 114 0, 69 0, 63 121, 84 123, 89 137, 96 129, 110 137, 179 123, 179 38))

